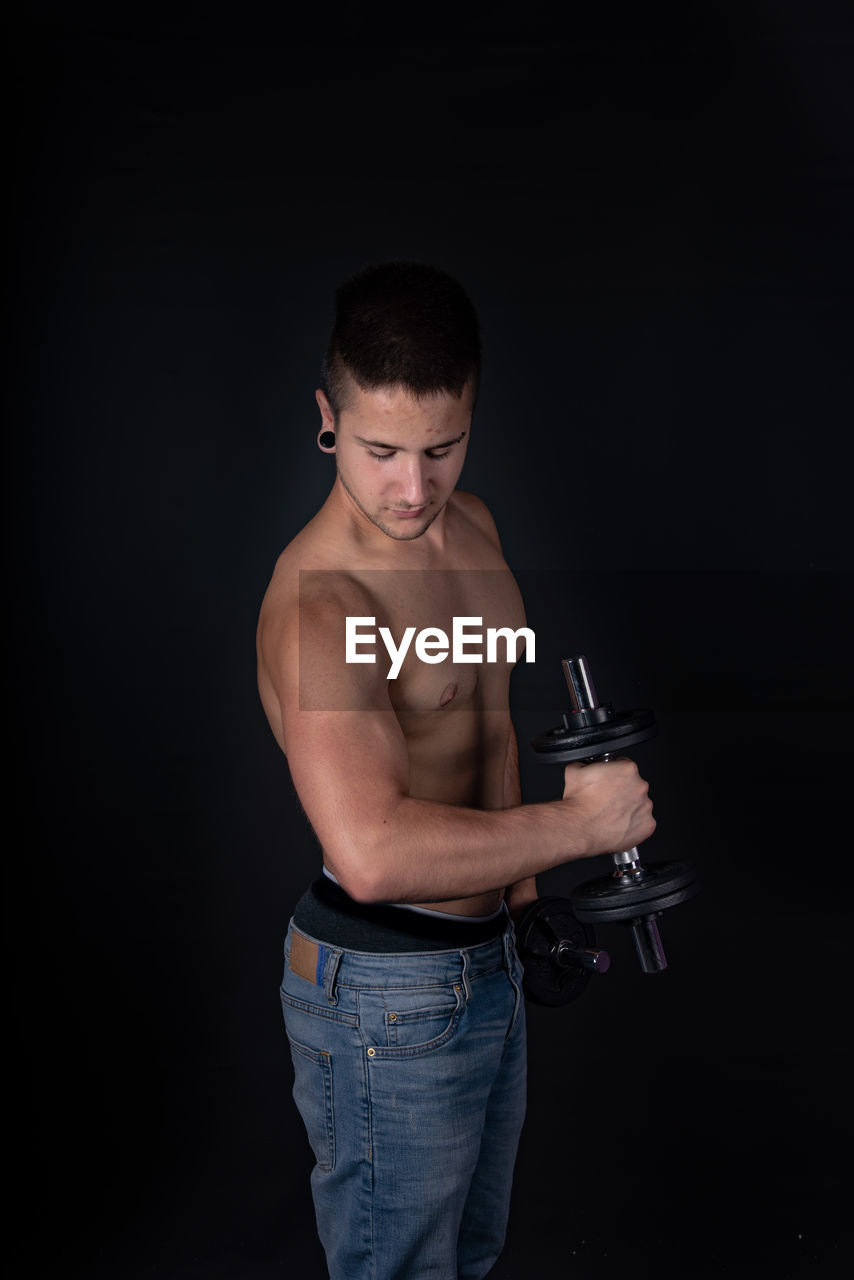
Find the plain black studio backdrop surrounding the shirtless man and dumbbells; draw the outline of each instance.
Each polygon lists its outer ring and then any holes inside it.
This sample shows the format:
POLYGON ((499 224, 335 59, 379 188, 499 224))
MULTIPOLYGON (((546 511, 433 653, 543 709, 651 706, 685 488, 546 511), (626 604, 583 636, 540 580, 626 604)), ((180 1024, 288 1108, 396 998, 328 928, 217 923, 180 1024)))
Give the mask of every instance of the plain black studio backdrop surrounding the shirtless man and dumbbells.
POLYGON ((850 6, 407 18, 8 27, 17 1272, 324 1274, 278 1002, 318 852, 254 632, 332 479, 333 288, 416 257, 481 312, 462 486, 536 631, 525 796, 586 653, 658 714, 649 856, 703 876, 666 974, 612 927, 600 986, 530 1010, 494 1274, 841 1276, 850 6))

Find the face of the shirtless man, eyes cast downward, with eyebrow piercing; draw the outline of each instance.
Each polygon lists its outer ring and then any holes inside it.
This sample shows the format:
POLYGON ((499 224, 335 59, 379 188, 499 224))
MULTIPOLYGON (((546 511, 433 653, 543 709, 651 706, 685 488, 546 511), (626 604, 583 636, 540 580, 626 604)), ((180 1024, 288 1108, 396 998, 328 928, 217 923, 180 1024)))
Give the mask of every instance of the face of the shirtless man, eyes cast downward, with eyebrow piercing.
POLYGON ((334 428, 323 392, 318 403, 324 428, 335 431, 338 479, 361 513, 399 541, 426 532, 462 471, 471 389, 416 399, 398 387, 365 392, 350 379, 334 428))

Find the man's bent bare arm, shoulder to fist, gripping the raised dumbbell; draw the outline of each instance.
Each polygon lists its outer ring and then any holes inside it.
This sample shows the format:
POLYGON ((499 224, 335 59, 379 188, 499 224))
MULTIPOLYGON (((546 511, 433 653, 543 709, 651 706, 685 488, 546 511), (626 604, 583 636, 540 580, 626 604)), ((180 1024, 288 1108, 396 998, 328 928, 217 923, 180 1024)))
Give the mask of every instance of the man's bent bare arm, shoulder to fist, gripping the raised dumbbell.
POLYGON ((382 664, 344 662, 343 617, 371 612, 347 590, 283 611, 262 627, 260 648, 293 783, 351 897, 470 897, 652 835, 647 783, 630 760, 567 765, 563 799, 545 804, 480 810, 410 796, 382 664))

